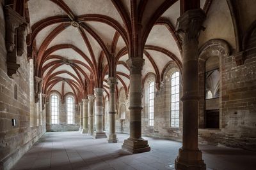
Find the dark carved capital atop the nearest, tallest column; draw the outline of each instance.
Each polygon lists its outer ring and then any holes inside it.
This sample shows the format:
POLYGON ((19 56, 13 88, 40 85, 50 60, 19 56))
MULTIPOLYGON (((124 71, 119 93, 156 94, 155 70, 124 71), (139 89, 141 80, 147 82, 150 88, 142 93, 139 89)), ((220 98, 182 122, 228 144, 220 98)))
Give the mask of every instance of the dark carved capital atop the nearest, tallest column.
POLYGON ((182 45, 190 40, 198 39, 199 32, 204 30, 202 24, 206 18, 202 9, 188 10, 177 19, 176 34, 182 41, 182 45))

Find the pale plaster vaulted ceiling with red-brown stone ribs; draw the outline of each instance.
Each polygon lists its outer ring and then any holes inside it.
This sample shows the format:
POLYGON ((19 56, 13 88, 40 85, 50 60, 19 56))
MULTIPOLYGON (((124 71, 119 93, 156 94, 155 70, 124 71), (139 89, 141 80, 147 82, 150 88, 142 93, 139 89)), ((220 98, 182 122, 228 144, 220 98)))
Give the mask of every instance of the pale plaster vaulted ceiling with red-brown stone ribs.
MULTIPOLYGON (((103 87, 108 94, 109 60, 115 60, 116 91, 129 90, 129 36, 131 11, 129 0, 29 0, 32 47, 36 53, 35 74, 43 78, 43 92, 74 94, 77 101, 103 87)), ((132 5, 131 5, 132 4, 132 5)), ((206 12, 210 0, 201 0, 206 12)), ((147 32, 143 58, 143 78, 161 74, 166 64, 175 62, 181 69, 181 46, 174 26, 180 16, 180 1, 137 1, 138 19, 147 32), (166 9, 165 9, 166 8, 166 9), (164 11, 163 11, 164 9, 164 11), (156 16, 158 16, 156 18, 156 16), (160 17, 161 16, 161 17, 160 17)), ((115 69, 115 66, 114 66, 115 69)))

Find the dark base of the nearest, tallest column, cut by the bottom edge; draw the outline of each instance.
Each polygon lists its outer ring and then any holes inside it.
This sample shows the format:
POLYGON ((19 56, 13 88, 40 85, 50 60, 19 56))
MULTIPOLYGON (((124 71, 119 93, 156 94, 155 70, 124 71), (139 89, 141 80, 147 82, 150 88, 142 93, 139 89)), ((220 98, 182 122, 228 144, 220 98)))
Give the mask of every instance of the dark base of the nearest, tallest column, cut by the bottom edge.
POLYGON ((177 170, 205 170, 206 165, 202 159, 200 150, 179 149, 179 155, 175 159, 175 169, 177 170))

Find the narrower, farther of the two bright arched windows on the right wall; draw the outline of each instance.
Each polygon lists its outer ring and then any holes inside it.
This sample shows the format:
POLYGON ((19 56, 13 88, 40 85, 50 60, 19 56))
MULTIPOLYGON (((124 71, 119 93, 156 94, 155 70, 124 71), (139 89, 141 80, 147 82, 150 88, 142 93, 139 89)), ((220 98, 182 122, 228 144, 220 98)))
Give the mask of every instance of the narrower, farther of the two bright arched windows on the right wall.
POLYGON ((148 85, 148 126, 154 126, 154 83, 148 85))

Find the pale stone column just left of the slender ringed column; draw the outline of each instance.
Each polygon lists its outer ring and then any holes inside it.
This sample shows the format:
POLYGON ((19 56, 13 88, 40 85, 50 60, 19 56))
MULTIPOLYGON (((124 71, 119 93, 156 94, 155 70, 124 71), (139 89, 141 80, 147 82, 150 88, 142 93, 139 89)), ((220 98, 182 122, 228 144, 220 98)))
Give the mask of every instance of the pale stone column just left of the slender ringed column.
POLYGON ((107 138, 106 133, 102 129, 102 106, 103 106, 103 92, 102 88, 95 88, 95 116, 96 116, 96 131, 93 134, 93 138, 107 138))

